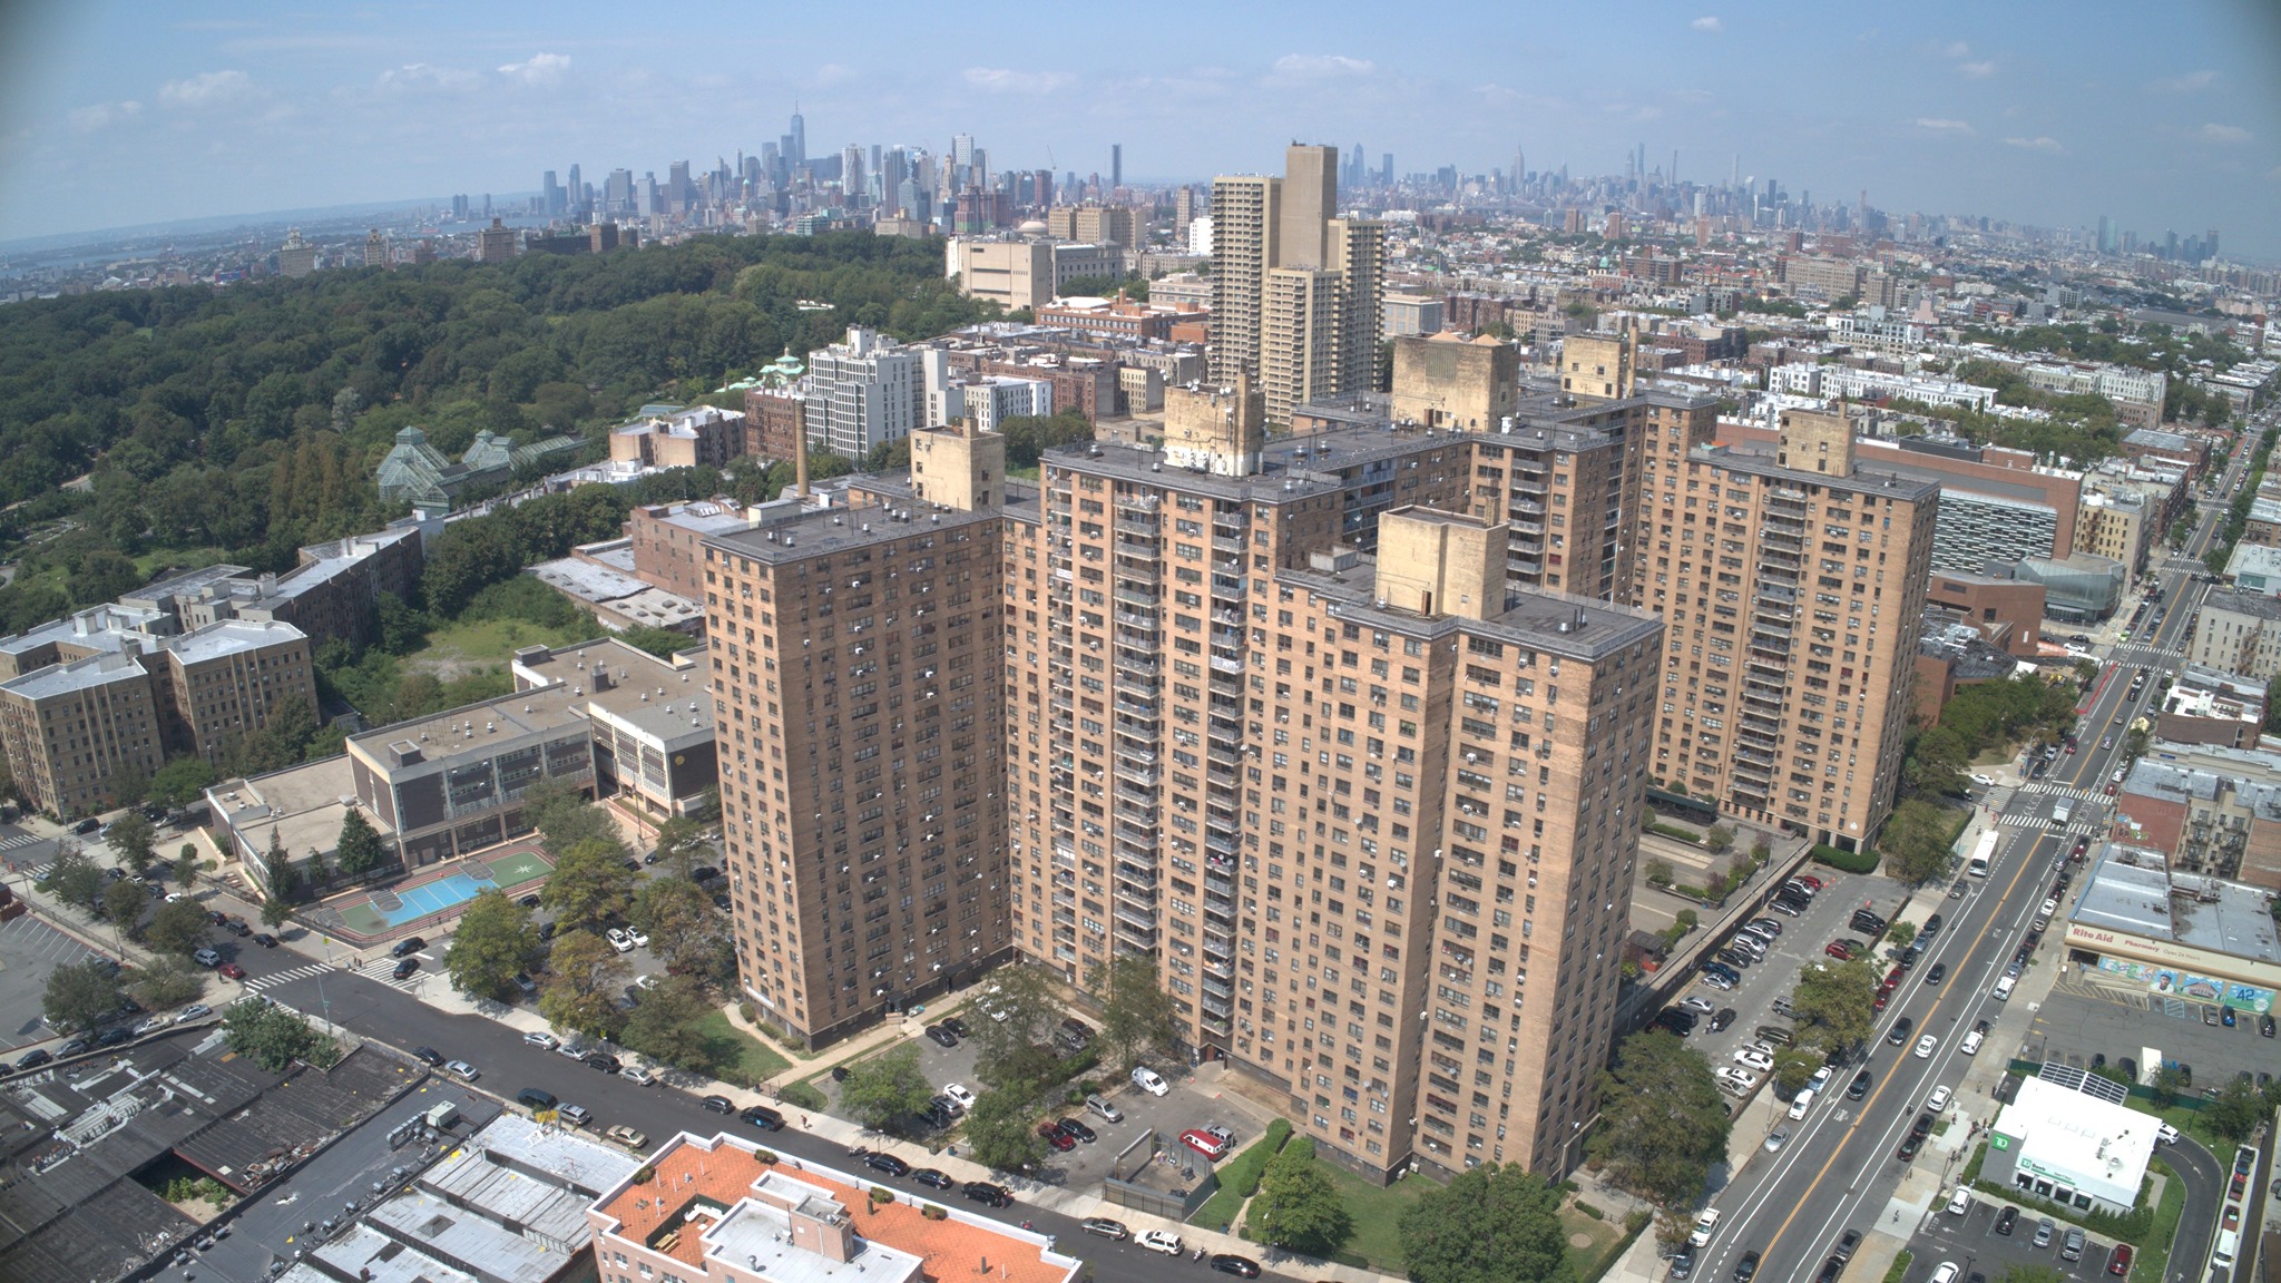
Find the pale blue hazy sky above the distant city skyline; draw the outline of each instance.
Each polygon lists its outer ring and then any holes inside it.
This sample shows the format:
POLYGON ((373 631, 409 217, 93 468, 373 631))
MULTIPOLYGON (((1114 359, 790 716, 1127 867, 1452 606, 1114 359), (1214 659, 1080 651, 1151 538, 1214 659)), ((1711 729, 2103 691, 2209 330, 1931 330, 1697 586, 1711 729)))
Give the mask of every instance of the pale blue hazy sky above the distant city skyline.
POLYGON ((992 169, 1202 180, 1286 142, 1779 178, 1816 201, 2281 263, 2281 5, 0 5, 0 242, 664 178, 972 132, 992 169))

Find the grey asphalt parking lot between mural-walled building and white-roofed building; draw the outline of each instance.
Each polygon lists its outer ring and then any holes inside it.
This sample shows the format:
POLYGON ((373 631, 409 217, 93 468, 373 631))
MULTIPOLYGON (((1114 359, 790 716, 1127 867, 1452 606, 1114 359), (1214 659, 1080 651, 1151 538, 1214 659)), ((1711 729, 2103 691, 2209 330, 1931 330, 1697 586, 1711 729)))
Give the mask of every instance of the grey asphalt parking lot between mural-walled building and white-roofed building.
MULTIPOLYGON (((2069 966, 2069 973, 2076 970, 2080 968, 2069 966)), ((2229 1030, 2203 1023, 2203 1009, 2201 1002, 2162 1002, 2105 986, 2062 984, 2037 1009, 2021 1055, 2078 1068, 2089 1068, 2096 1055, 2105 1055, 2108 1064, 2130 1057, 2144 1080, 2156 1068, 2146 1062, 2146 1048, 2156 1048, 2162 1059, 2192 1066, 2194 1091, 2224 1087, 2242 1071, 2281 1068, 2281 1043, 2258 1036, 2256 1016, 2240 1014, 2229 1030)))

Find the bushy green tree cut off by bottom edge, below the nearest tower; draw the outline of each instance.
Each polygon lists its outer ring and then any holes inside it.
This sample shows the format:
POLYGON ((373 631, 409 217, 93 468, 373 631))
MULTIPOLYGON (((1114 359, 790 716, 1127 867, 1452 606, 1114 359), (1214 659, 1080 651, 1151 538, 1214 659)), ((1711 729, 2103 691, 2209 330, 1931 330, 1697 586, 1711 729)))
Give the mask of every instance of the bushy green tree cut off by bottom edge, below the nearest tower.
POLYGON ((1401 1219, 1412 1283, 1574 1283, 1560 1192, 1519 1164, 1485 1162, 1428 1187, 1401 1219))

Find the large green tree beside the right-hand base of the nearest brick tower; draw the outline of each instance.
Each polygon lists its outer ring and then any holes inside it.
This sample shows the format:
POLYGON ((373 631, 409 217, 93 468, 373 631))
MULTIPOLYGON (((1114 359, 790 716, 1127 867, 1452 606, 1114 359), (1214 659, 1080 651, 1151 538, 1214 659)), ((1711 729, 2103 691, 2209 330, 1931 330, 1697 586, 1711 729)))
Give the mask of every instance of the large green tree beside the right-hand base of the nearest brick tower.
POLYGON ((1663 1030, 1624 1039, 1599 1075, 1599 1128, 1585 1151, 1617 1185, 1661 1208, 1702 1199, 1727 1157, 1727 1103, 1702 1052, 1663 1030))

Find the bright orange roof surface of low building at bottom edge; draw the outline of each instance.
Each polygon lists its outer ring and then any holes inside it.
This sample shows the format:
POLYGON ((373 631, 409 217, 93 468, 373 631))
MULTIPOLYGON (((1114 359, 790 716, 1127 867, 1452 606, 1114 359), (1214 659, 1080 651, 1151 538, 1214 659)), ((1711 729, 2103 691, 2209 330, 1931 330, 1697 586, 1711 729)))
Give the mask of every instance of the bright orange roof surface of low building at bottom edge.
MULTIPOLYGON (((650 1164, 657 1178, 646 1185, 627 1185, 600 1210, 620 1221, 618 1235, 646 1242, 671 1217, 680 1217, 691 1199, 709 1199, 721 1208, 734 1208, 750 1194, 753 1185, 771 1171, 771 1164, 753 1157, 753 1151, 719 1137, 712 1148, 673 1141, 650 1164), (641 1203, 648 1203, 646 1208, 641 1203)), ((926 1278, 953 1278, 974 1274, 988 1260, 995 1283, 1065 1283, 1070 1269, 1045 1260, 1042 1249, 990 1226, 974 1226, 958 1219, 928 1221, 919 1215, 922 1203, 896 1192, 894 1203, 871 1208, 867 1185, 835 1180, 801 1160, 782 1160, 782 1171, 814 1185, 837 1199, 855 1221, 855 1233, 896 1251, 917 1256, 926 1278)), ((696 1226, 691 1226, 696 1230, 696 1226)), ((698 1233, 684 1233, 666 1256, 687 1265, 705 1265, 705 1244, 698 1233)))

